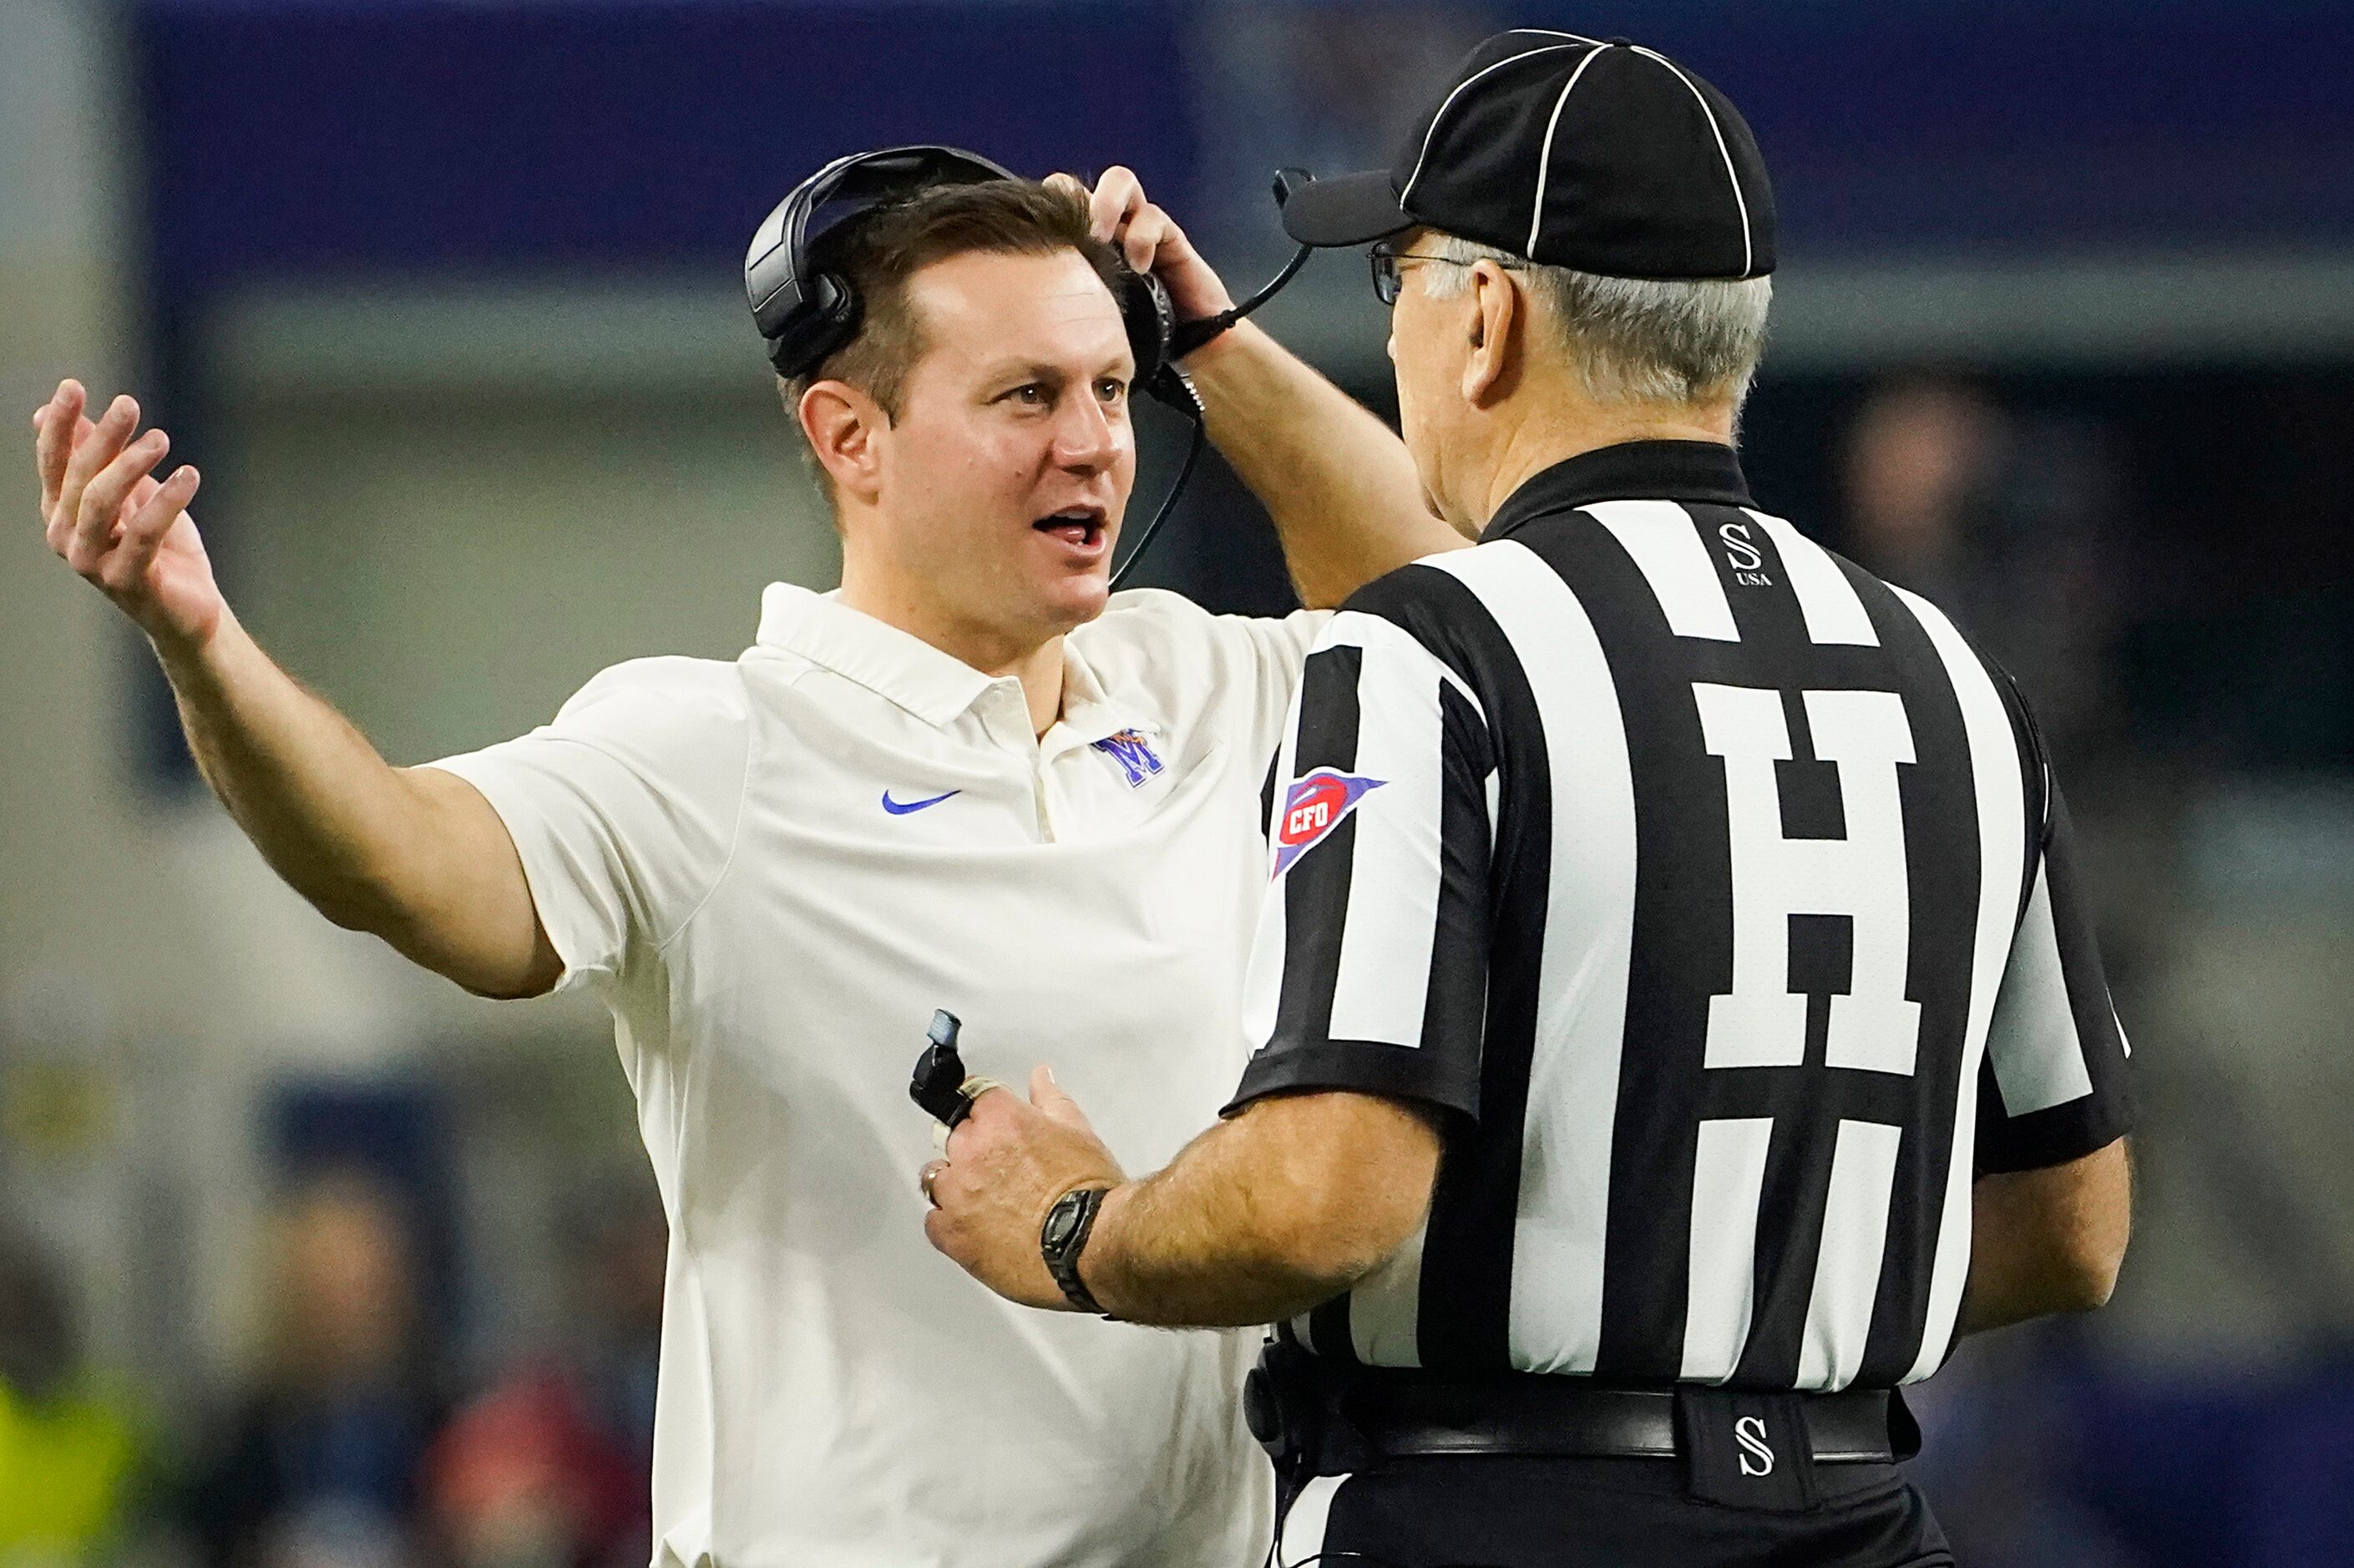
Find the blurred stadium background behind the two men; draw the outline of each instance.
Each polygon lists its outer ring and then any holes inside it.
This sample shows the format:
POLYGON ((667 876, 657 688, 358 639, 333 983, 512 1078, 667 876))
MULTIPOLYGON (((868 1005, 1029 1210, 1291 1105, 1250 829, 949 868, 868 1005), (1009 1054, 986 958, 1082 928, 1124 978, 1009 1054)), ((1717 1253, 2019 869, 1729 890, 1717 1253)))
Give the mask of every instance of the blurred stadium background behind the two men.
MULTIPOLYGON (((1923 1396, 1963 1561, 2354 1561, 2345 0, 5 0, 0 407, 134 388, 261 640, 395 760, 468 749, 831 582, 734 285, 817 162, 1130 162, 1241 292, 1269 170, 1384 162, 1507 24, 1744 106, 1756 487, 2022 676, 2097 845, 2140 1234, 2107 1314, 1923 1396)), ((1264 320, 1389 405, 1354 254, 1264 320)), ((643 1563, 661 1217, 603 1015, 280 890, 9 428, 0 1566, 643 1563)), ((1146 574, 1288 603, 1224 473, 1146 574)))

